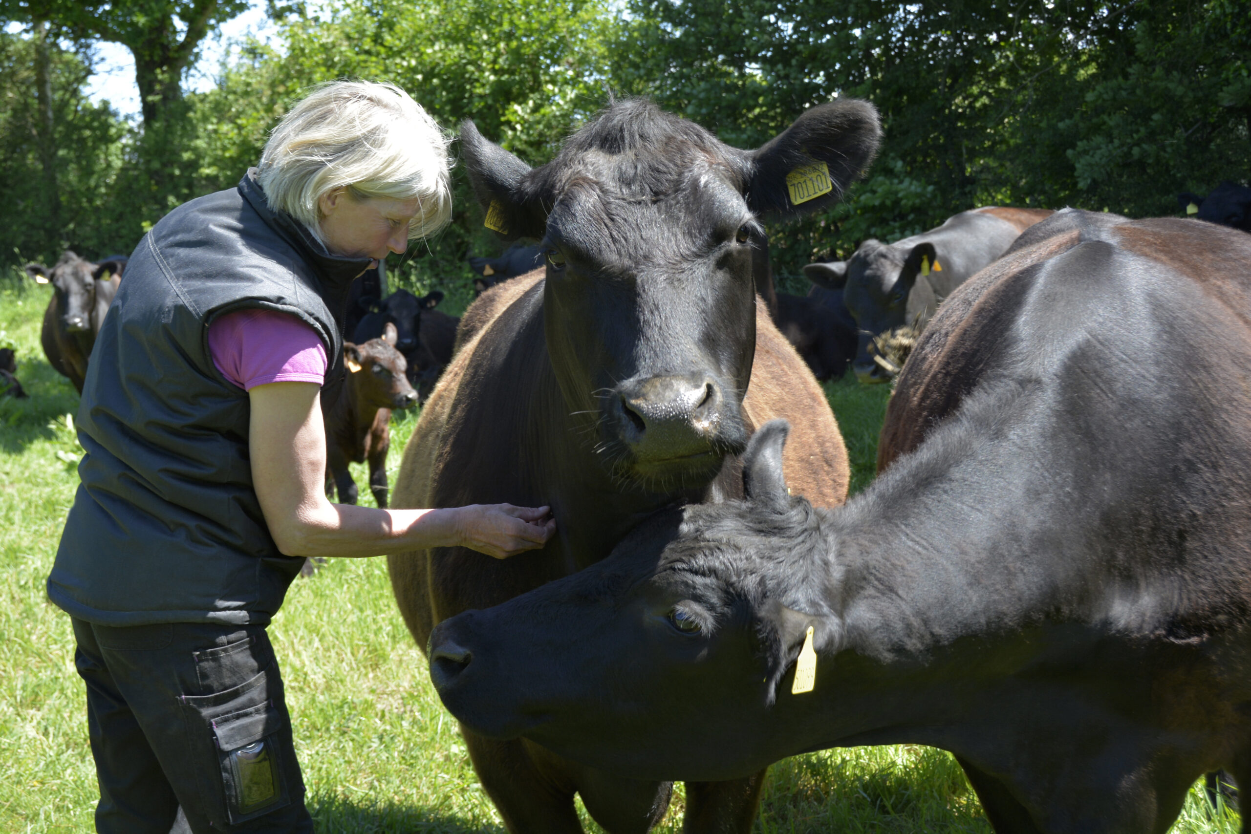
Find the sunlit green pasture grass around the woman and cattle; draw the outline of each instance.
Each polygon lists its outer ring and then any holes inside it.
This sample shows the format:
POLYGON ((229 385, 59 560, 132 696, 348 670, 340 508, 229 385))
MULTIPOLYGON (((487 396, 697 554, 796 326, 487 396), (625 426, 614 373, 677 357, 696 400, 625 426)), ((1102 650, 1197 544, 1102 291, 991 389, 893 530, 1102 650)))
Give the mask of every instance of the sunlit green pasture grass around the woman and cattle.
MULTIPOLYGON (((31 395, 0 399, 4 833, 91 830, 96 799, 69 618, 44 595, 78 481, 71 463, 78 446, 65 421, 78 395, 39 348, 48 295, 48 288, 0 284, 0 346, 18 349, 19 378, 31 395)), ((887 391, 844 380, 828 393, 852 454, 853 489, 863 489, 872 479, 887 391)), ((415 415, 405 415, 393 429, 393 466, 414 423, 415 415)), ((364 483, 364 473, 357 480, 364 483)), ((298 580, 270 631, 319 831, 503 831, 395 610, 383 560, 332 560, 314 578, 298 580)), ((681 830, 682 804, 679 791, 659 830, 681 830)), ((1192 790, 1173 830, 1233 834, 1238 824, 1231 813, 1213 818, 1192 790)), ((587 828, 599 830, 589 820, 587 828)), ((757 830, 991 829, 950 755, 906 745, 778 763, 757 830)))

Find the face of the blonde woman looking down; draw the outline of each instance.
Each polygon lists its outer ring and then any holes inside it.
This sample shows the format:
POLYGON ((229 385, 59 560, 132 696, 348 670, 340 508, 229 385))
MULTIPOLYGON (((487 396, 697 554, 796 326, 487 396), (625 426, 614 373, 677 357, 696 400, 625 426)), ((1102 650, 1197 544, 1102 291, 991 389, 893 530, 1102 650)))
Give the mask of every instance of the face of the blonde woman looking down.
POLYGON ((347 189, 335 189, 318 200, 322 209, 322 239, 335 255, 382 260, 408 248, 408 224, 417 215, 417 198, 354 199, 347 189))

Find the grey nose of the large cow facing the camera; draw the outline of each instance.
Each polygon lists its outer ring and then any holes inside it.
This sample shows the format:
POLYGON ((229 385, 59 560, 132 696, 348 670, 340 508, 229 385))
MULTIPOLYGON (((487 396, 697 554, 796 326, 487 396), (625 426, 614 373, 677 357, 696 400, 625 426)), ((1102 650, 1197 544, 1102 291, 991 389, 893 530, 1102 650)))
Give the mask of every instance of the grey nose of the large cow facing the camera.
POLYGON ((652 376, 623 385, 614 400, 622 439, 651 460, 706 453, 721 425, 723 399, 707 376, 652 376))

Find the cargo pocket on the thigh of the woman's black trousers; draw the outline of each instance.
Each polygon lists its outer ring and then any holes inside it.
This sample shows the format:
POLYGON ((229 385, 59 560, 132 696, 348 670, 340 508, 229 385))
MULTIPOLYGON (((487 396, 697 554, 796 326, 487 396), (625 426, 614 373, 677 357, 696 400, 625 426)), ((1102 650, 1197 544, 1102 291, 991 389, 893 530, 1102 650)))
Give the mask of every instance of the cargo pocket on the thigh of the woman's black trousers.
POLYGON ((290 778, 295 763, 281 689, 270 676, 276 678, 274 666, 234 689, 179 699, 193 735, 214 750, 219 773, 206 781, 231 825, 289 805, 299 781, 290 778))

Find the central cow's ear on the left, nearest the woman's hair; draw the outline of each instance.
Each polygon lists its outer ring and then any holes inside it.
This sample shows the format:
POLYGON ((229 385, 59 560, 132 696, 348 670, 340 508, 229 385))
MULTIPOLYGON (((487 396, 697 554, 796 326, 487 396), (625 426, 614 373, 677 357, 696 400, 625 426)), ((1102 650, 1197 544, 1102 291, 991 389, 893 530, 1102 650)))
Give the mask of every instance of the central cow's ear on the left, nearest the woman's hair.
POLYGON ((483 225, 503 240, 542 238, 547 211, 524 188, 530 166, 485 139, 469 119, 460 123, 460 153, 474 196, 487 213, 483 225))

